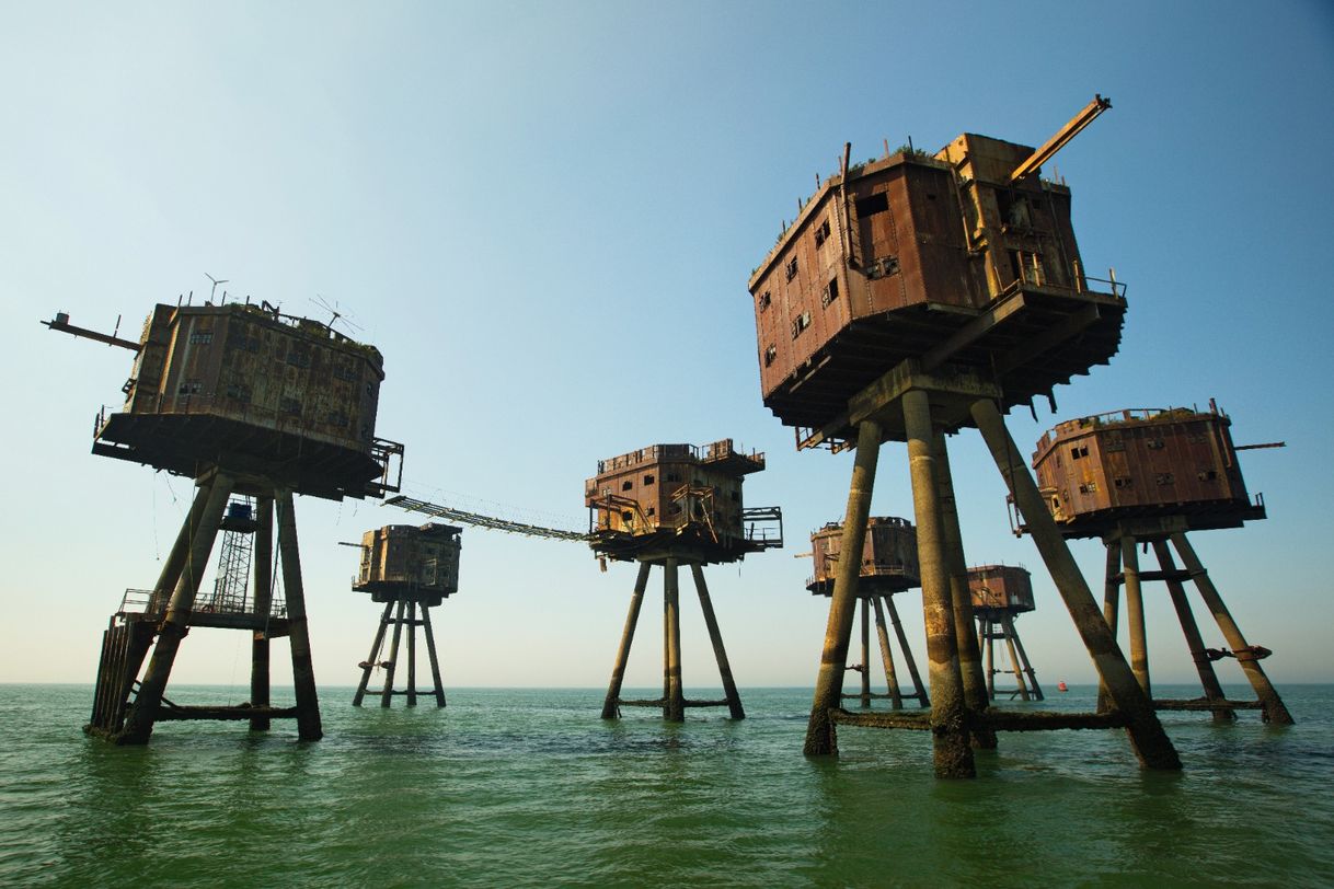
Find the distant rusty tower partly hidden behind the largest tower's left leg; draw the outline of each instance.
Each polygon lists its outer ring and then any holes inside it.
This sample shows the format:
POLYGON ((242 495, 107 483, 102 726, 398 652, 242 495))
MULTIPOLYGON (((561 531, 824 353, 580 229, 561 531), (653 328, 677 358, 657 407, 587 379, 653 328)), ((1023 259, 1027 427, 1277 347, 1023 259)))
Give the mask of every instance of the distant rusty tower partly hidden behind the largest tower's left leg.
MULTIPOLYGON (((843 542, 843 525, 831 521, 811 534, 811 557, 814 573, 806 581, 806 589, 815 596, 834 594, 834 573, 842 561, 839 545, 843 542)), ((862 546, 859 565, 860 581, 856 596, 862 610, 862 662, 850 664, 847 669, 860 677, 860 690, 855 697, 863 708, 871 706, 872 698, 888 698, 895 710, 903 708, 903 698, 916 698, 922 706, 930 706, 922 676, 918 673, 912 649, 908 648, 899 610, 894 606, 894 594, 920 585, 916 566, 916 533, 912 522, 894 516, 872 516, 867 520, 866 542, 862 546), (884 693, 871 692, 871 609, 875 609, 875 632, 880 645, 880 665, 884 669, 884 693), (888 612, 899 652, 907 665, 911 690, 899 686, 898 670, 894 665, 894 652, 890 648, 890 633, 884 622, 888 612)))

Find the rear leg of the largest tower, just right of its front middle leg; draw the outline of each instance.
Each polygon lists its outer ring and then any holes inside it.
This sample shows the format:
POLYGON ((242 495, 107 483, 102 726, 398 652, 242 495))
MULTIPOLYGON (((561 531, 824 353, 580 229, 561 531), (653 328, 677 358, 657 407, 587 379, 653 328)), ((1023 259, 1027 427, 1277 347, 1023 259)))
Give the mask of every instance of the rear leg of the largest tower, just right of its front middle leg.
MULTIPOLYGON (((968 561, 963 553, 963 532, 959 529, 959 508, 954 498, 954 476, 950 472, 950 449, 943 432, 936 432, 935 480, 940 489, 940 532, 944 537, 944 558, 950 570, 950 601, 954 605, 954 634, 959 649, 959 673, 963 678, 963 704, 970 713, 983 713, 987 697, 982 674, 982 652, 972 632, 972 590, 968 589, 968 561)), ((996 748, 996 733, 970 720, 972 746, 984 750, 996 748)))

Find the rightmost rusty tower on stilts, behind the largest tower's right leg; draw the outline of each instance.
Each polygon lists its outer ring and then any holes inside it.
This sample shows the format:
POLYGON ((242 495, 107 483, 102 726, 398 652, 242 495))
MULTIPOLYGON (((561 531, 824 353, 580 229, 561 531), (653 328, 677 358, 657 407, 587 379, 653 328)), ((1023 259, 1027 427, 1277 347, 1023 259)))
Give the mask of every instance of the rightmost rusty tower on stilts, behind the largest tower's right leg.
MULTIPOLYGON (((1143 584, 1166 584, 1203 697, 1151 698, 1155 708, 1207 710, 1218 722, 1233 721, 1238 709, 1259 709, 1266 722, 1287 725, 1293 717, 1261 666, 1271 652, 1246 641, 1186 538, 1191 530, 1241 528, 1265 518, 1263 497, 1246 492, 1237 458, 1242 449, 1233 444, 1231 419, 1213 400, 1209 411, 1135 409, 1069 420, 1042 436, 1033 454, 1042 497, 1038 508, 1066 537, 1098 537, 1106 546, 1103 614, 1115 632, 1125 586, 1130 664, 1150 698, 1143 584), (1141 570, 1137 545, 1153 548, 1158 570, 1141 570), (1178 568, 1171 549, 1183 566, 1178 568), (1186 581, 1199 590, 1227 648, 1205 645, 1186 581), (1214 670, 1223 657, 1241 665, 1255 701, 1229 700, 1223 693, 1214 670)), ((1019 530, 1034 524, 1022 506, 1013 520, 1019 530)), ((1106 706, 1106 692, 1102 697, 1106 706)))

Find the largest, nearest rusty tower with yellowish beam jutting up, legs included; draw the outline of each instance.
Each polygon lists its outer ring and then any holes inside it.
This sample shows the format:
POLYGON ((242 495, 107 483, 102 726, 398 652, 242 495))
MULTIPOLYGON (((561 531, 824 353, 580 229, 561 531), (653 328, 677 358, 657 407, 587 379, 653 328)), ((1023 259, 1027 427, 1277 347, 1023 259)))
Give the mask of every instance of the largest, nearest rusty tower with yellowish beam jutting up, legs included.
POLYGON ((1071 192, 1042 165, 1111 103, 1097 96, 1038 148, 966 133, 935 155, 911 147, 819 184, 750 277, 764 404, 799 448, 856 448, 842 552, 862 552, 879 449, 906 441, 930 662, 931 710, 851 713, 840 693, 860 582, 840 562, 806 737, 836 753, 839 724, 928 729, 940 777, 975 774, 972 744, 995 732, 1125 726, 1141 761, 1181 760, 1117 648, 1066 541, 1005 428, 1003 412, 1049 399, 1106 364, 1121 341, 1125 288, 1090 277, 1071 192), (988 706, 946 435, 976 427, 1114 701, 1106 713, 988 706))

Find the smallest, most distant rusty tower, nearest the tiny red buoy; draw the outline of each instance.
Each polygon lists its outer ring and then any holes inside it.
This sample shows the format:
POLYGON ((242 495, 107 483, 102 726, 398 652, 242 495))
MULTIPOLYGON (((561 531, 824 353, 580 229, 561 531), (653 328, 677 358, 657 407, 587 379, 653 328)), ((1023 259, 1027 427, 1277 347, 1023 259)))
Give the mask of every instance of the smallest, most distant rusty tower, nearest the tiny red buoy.
POLYGON ((987 697, 994 701, 998 694, 1006 694, 1011 700, 1019 697, 1025 701, 1041 701, 1043 696, 1038 674, 1014 628, 1019 614, 1035 608, 1033 576, 1018 565, 978 565, 968 569, 968 592, 972 596, 972 613, 978 618, 978 645, 986 658, 987 697), (998 640, 1005 642, 1010 654, 1010 670, 1015 681, 1013 689, 999 692, 996 674, 1002 670, 996 666, 995 657, 998 640))

